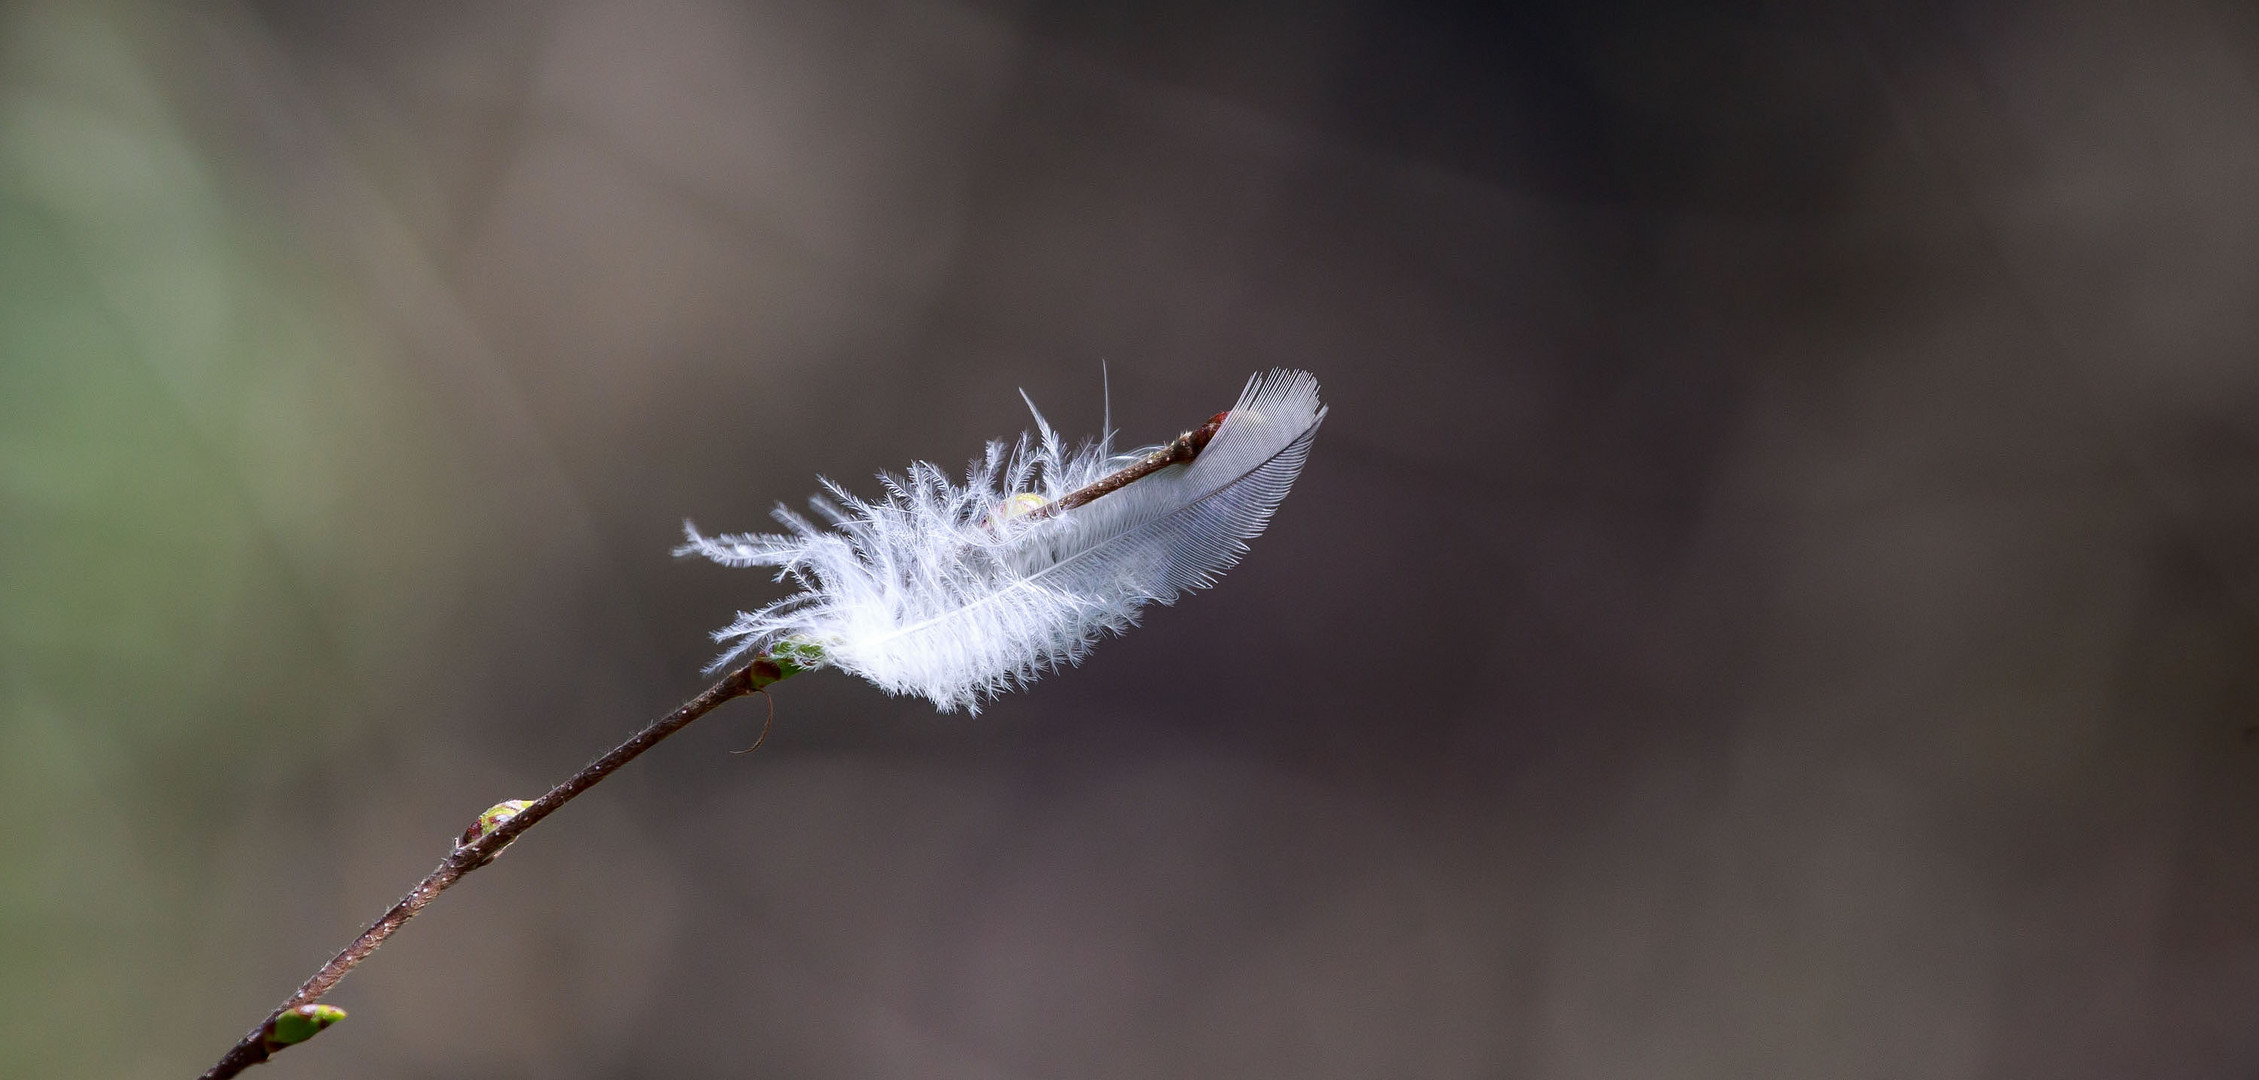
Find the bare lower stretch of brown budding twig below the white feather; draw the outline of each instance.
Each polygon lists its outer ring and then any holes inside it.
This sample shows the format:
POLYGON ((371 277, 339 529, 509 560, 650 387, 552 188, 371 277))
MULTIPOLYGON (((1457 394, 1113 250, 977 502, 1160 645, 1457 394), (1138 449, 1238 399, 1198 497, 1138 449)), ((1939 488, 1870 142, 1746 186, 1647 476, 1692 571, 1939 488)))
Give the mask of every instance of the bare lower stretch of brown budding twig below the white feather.
POLYGON ((472 822, 472 827, 463 831, 463 838, 456 841, 454 850, 447 852, 447 859, 443 859, 436 870, 425 874, 425 879, 418 881, 416 888, 409 890, 409 895, 400 897, 400 904, 393 904, 393 908, 386 911, 377 922, 368 924, 368 929, 361 931, 361 935, 355 938, 355 942, 348 944, 346 951, 337 953, 330 963, 321 965, 321 972, 314 972, 314 978, 307 978, 305 985, 300 985, 296 994, 291 994, 289 999, 282 1001, 282 1005, 269 1012, 258 1028, 251 1028, 251 1033, 244 1035, 244 1039, 237 1042, 219 1060, 219 1064, 215 1064, 210 1071, 203 1073, 203 1080, 226 1080, 235 1073, 242 1073, 244 1069, 251 1069, 253 1064, 264 1062, 276 1051, 287 1046, 285 1042, 276 1042, 276 1021, 282 1019, 285 1012, 296 1010, 300 1005, 309 1005, 323 994, 328 994, 330 987, 334 987, 341 978, 346 978, 346 974, 352 972, 361 960, 368 960, 368 953, 377 951, 377 947, 384 944, 384 938, 391 938, 393 931, 398 931, 404 922, 413 920, 416 913, 425 908, 425 904, 431 904, 434 897, 445 892, 447 886, 461 881, 463 874, 486 863, 492 863, 495 856, 501 854, 501 850, 517 838, 517 834, 531 829, 535 822, 553 813, 574 795, 596 786, 599 779, 612 775, 614 768, 633 761, 635 755, 651 750, 653 746, 657 746, 660 739, 666 739, 669 734, 680 732, 698 716, 714 712, 716 705, 764 689, 770 682, 777 682, 795 671, 797 671, 795 664, 788 662, 779 664, 761 655, 755 662, 736 671, 730 671, 727 676, 723 676, 721 682, 707 687, 696 698, 682 703, 680 709, 635 732, 633 737, 628 737, 628 741, 614 746, 612 752, 590 761, 585 768, 567 777, 562 784, 549 789, 547 795, 529 802, 522 811, 517 811, 517 816, 495 825, 492 829, 486 827, 483 818, 481 822, 472 822))

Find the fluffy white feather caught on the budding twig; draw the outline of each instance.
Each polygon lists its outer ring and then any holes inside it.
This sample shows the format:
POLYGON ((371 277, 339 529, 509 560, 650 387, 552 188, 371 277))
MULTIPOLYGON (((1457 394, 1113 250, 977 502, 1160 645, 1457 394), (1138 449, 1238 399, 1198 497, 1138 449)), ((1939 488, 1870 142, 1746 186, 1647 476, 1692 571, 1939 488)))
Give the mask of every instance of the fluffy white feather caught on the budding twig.
POLYGON ((1145 603, 1215 583, 1285 499, 1324 418, 1310 373, 1254 375, 1188 465, 1028 520, 1037 499, 1055 502, 1143 456, 1111 454, 1111 432, 1066 452, 1035 413, 1037 436, 989 443, 962 486, 924 461, 901 477, 881 472, 879 502, 822 481, 829 497, 809 499, 822 524, 782 504, 786 533, 709 538, 684 522, 689 542, 675 554, 777 567, 777 581, 800 585, 716 630, 732 646, 712 669, 795 639, 888 694, 980 712, 985 698, 1136 626, 1145 603))

